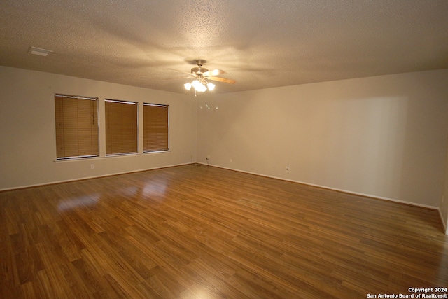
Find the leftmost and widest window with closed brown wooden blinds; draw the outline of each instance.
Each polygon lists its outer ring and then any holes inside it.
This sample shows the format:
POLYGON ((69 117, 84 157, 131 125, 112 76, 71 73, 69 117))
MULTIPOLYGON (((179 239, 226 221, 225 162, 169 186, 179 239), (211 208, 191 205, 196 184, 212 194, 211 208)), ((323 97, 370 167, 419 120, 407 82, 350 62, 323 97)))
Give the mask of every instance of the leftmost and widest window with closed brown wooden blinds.
POLYGON ((98 156, 98 99, 55 95, 56 158, 98 156))

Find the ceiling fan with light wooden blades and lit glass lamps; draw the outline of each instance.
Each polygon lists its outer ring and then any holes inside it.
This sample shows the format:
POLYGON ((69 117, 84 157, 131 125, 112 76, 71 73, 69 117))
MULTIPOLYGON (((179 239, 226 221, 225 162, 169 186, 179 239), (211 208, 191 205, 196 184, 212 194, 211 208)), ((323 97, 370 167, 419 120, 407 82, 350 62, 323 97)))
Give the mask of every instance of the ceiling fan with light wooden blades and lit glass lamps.
POLYGON ((195 79, 192 82, 188 82, 183 85, 186 90, 190 90, 192 87, 195 88, 195 92, 204 92, 207 89, 214 90, 215 85, 214 83, 209 82, 210 80, 230 84, 234 84, 236 82, 232 79, 217 77, 221 74, 224 74, 225 71, 221 69, 214 69, 213 71, 209 71, 208 69, 202 67, 202 64, 204 64, 205 62, 205 60, 196 60, 197 67, 193 67, 193 69, 191 69, 190 73, 188 73, 188 77, 183 77, 195 79))

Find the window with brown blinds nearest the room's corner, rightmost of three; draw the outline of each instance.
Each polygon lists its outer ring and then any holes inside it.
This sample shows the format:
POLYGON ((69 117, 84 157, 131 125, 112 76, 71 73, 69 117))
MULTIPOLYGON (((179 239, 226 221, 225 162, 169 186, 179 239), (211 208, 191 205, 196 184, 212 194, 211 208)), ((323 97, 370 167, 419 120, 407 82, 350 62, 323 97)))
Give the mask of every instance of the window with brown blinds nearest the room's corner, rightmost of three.
POLYGON ((144 151, 168 151, 168 106, 143 106, 144 151))

